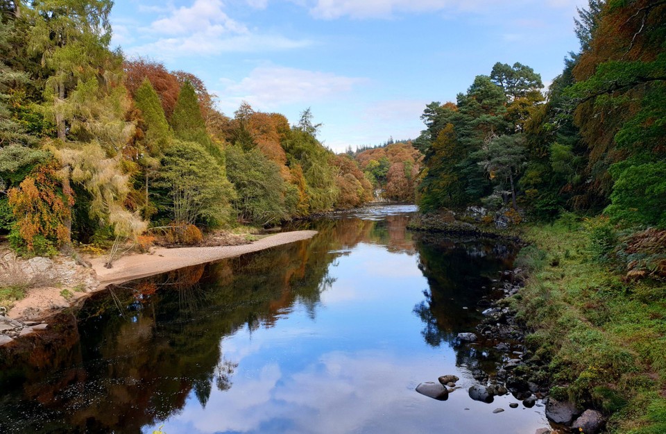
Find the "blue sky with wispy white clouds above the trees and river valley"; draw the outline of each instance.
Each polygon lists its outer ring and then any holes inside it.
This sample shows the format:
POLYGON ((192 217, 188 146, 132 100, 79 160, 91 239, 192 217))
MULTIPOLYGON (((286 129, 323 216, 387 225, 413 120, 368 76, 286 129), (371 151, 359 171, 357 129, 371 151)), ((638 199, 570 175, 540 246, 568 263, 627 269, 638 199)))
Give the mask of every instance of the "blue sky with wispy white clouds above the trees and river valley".
POLYGON ((192 72, 233 116, 241 101, 294 123, 310 107, 335 151, 418 136, 495 62, 549 83, 575 51, 586 0, 117 0, 114 46, 192 72))

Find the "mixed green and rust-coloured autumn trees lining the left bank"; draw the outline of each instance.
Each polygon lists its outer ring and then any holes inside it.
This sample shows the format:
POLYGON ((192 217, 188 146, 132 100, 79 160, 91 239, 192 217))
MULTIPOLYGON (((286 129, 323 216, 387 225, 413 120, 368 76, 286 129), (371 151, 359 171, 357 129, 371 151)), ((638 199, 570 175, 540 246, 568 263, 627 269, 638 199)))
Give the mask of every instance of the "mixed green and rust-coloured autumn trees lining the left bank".
POLYGON ((0 231, 31 254, 177 242, 358 206, 372 185, 316 138, 203 81, 111 49, 110 0, 6 1, 0 20, 0 231))

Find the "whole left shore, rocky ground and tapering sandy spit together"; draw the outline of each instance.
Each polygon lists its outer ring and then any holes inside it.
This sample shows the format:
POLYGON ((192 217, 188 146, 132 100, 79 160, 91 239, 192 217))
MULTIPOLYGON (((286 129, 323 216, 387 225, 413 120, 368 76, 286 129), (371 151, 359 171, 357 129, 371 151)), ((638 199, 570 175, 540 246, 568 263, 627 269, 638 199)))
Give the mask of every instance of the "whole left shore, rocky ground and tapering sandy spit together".
MULTIPOLYGON (((22 322, 28 321, 28 324, 41 322, 49 319, 49 317, 58 312, 62 312, 62 310, 71 306, 77 306, 78 303, 82 303, 90 294, 104 290, 105 287, 111 284, 123 283, 135 278, 169 272, 173 269, 270 249, 282 244, 307 240, 314 235, 316 235, 316 231, 292 231, 269 235, 250 244, 239 246, 158 248, 151 253, 123 256, 115 261, 114 266, 110 269, 104 267, 105 258, 103 257, 92 258, 92 269, 85 269, 83 267, 74 269, 74 261, 65 258, 57 258, 54 261, 46 260, 46 258, 33 258, 33 260, 25 261, 26 265, 24 265, 24 269, 31 269, 30 267, 34 262, 36 265, 44 268, 42 270, 42 274, 44 274, 56 268, 46 269, 43 263, 49 261, 55 264, 66 262, 67 274, 71 275, 68 282, 78 282, 80 279, 77 280, 75 277, 76 275, 80 275, 85 276, 86 284, 76 283, 76 285, 69 285, 67 282, 63 283, 58 281, 57 278, 53 278, 48 282, 49 285, 31 287, 26 290, 25 297, 16 301, 14 306, 9 310, 8 318, 18 319, 22 322)), ((35 267, 32 269, 35 269, 35 267)), ((11 335, 12 337, 18 336, 26 328, 12 324, 10 321, 7 324, 8 326, 3 330, 3 334, 11 335)), ((24 334, 29 332, 25 331, 24 334)), ((0 342, 8 343, 11 340, 3 339, 0 342)))

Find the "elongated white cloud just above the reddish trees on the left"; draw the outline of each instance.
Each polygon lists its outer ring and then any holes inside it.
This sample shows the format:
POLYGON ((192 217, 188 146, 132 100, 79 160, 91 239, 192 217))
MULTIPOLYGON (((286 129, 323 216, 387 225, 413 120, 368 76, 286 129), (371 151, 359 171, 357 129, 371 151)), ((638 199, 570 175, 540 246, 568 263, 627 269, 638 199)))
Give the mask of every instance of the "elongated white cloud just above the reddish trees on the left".
POLYGON ((239 83, 221 92, 221 103, 248 101, 258 110, 274 110, 279 106, 302 103, 304 106, 334 99, 350 92, 364 78, 339 76, 330 72, 308 71, 280 66, 257 67, 239 83))

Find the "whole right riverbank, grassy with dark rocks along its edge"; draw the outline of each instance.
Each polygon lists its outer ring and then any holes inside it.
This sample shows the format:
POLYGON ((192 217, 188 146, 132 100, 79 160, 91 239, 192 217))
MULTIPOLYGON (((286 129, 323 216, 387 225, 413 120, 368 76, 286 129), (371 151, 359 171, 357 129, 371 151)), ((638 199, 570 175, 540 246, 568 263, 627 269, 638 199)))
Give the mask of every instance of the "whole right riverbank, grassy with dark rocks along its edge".
POLYGON ((639 237, 644 250, 631 251, 606 233, 617 229, 598 220, 567 215, 506 230, 460 222, 449 212, 420 216, 410 229, 499 235, 525 246, 506 272, 506 299, 479 326, 490 339, 520 335, 525 344, 522 360, 500 366, 498 379, 511 372, 506 381, 513 389, 547 392, 563 426, 587 409, 586 417, 601 416, 608 433, 666 433, 666 283, 663 274, 650 278, 647 265, 659 262, 644 248, 663 252, 661 235, 646 231, 639 237))

